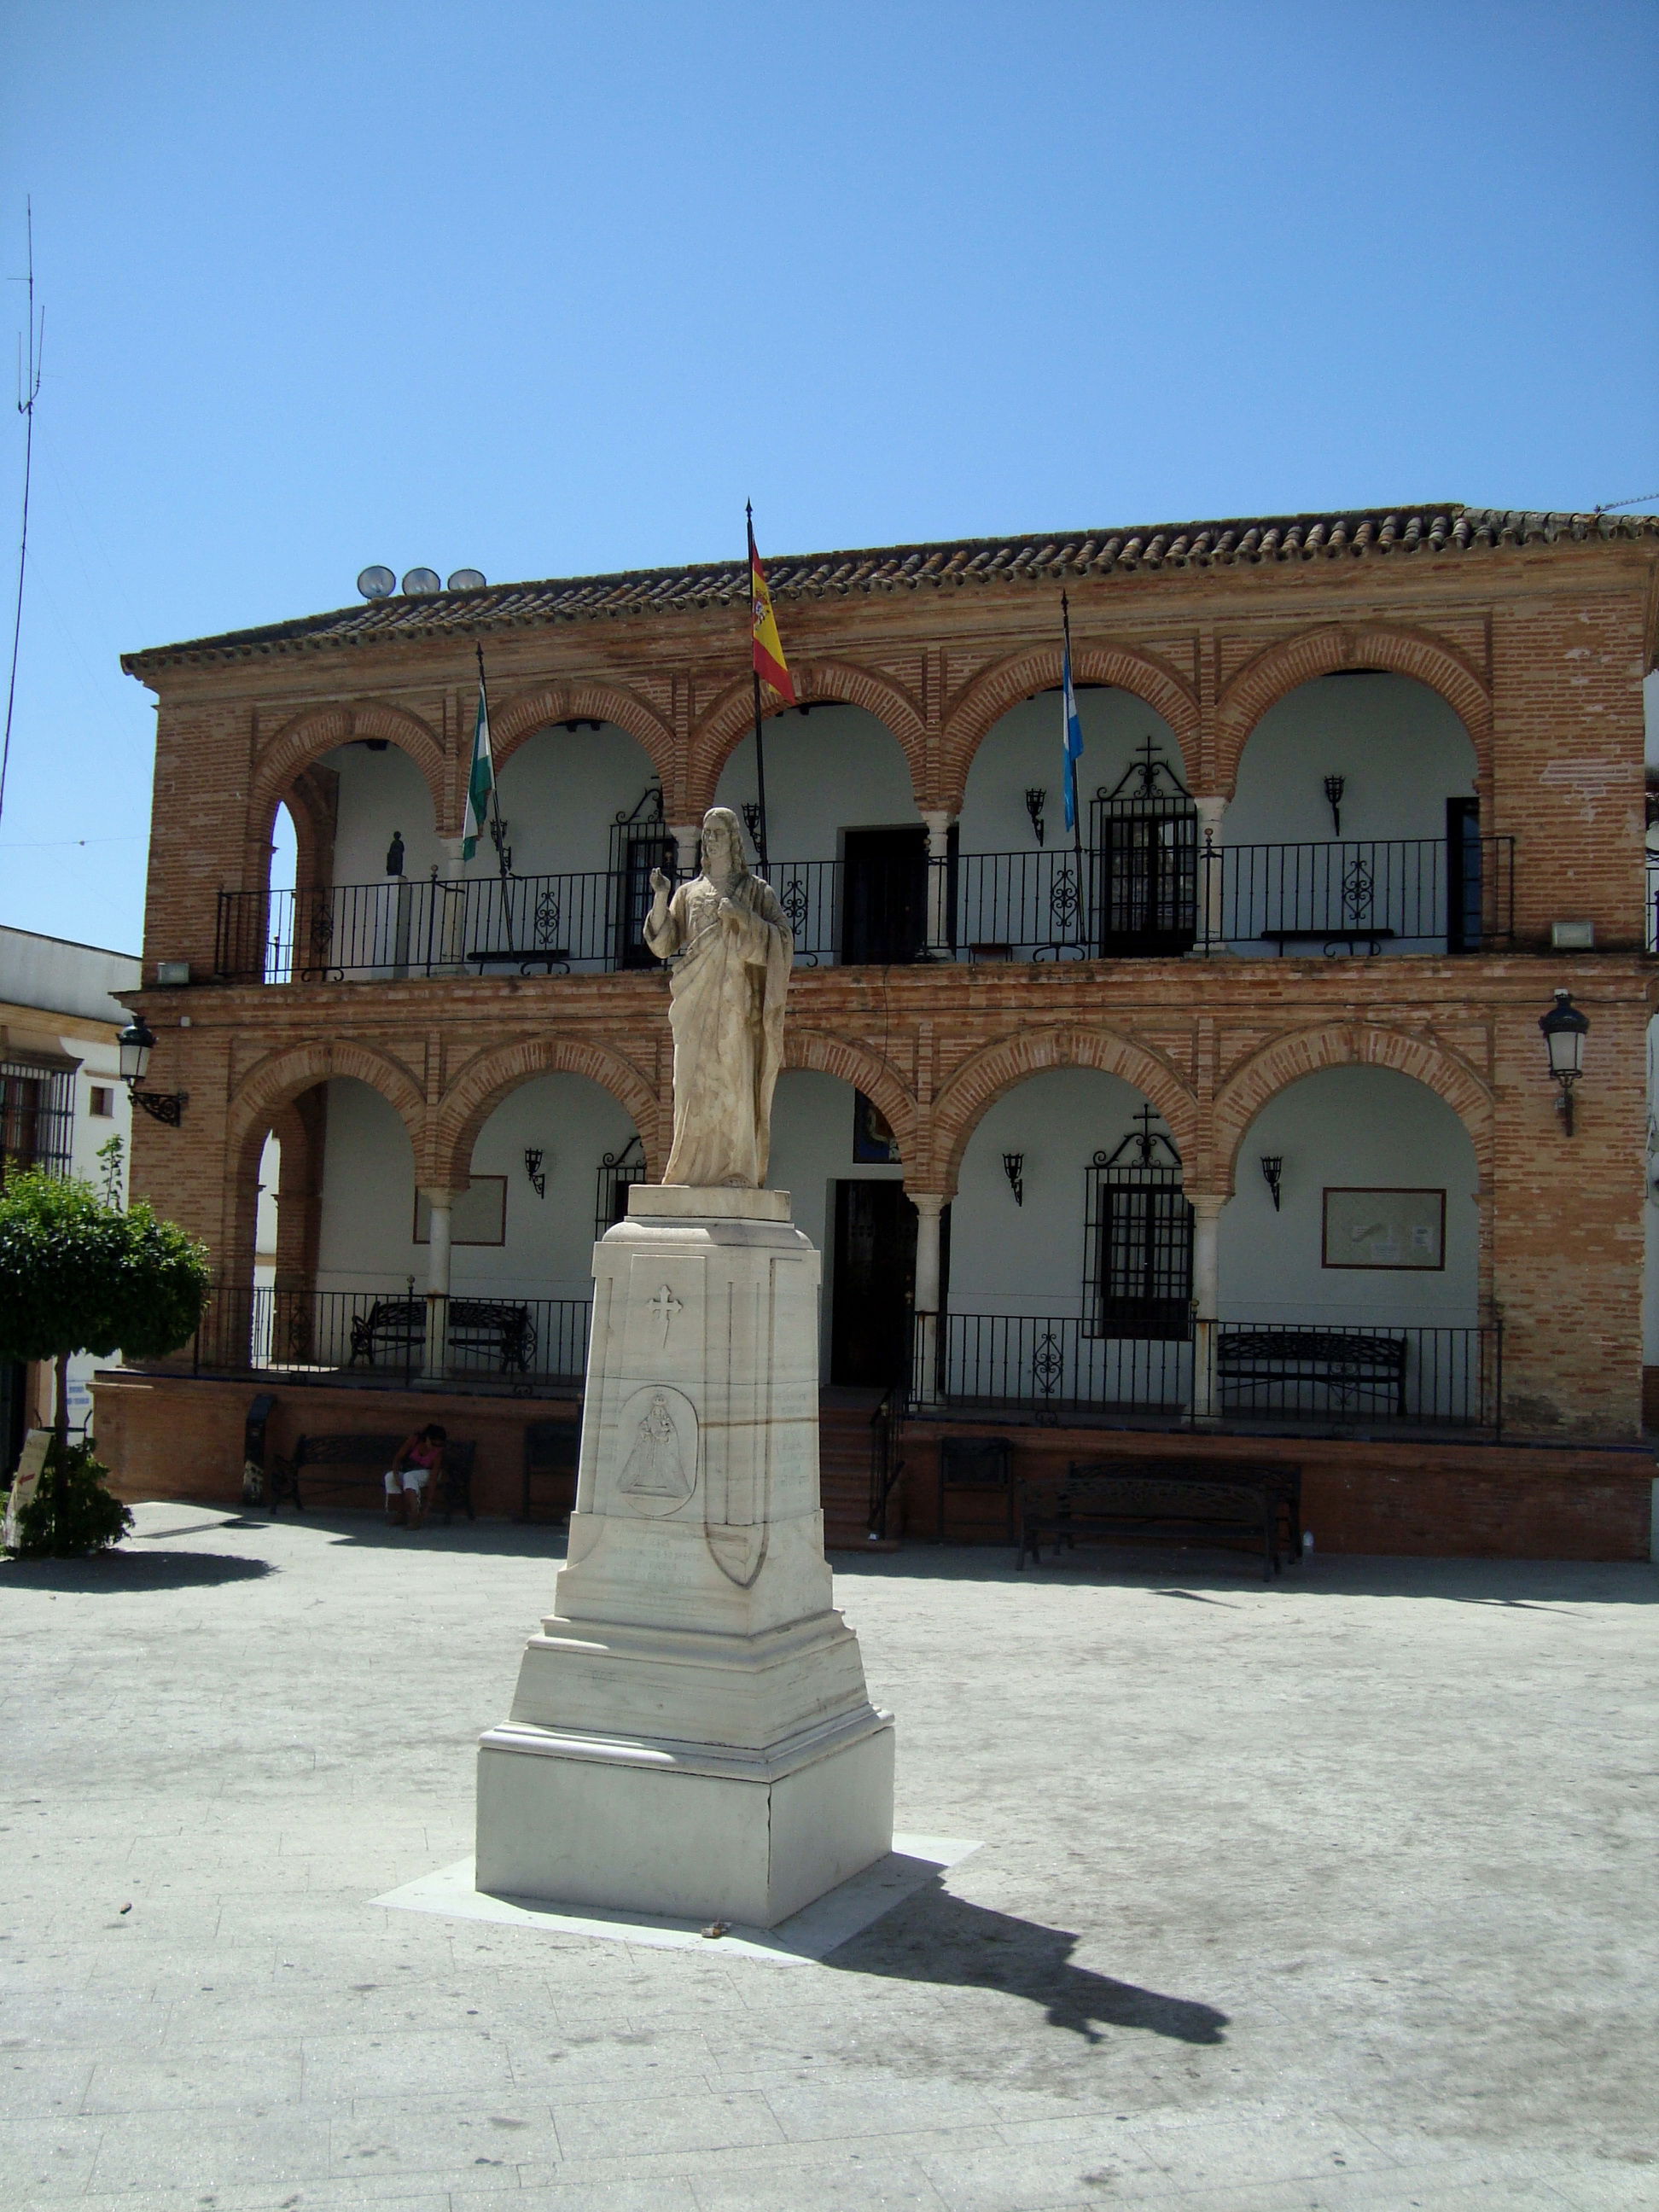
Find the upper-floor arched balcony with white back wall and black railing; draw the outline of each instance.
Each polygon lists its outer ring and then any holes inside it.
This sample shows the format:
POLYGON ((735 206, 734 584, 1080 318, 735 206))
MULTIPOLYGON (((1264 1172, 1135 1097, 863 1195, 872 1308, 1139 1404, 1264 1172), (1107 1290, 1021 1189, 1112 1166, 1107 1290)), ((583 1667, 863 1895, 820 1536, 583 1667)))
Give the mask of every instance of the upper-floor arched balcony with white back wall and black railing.
MULTIPOLYGON (((814 701, 765 723, 768 878, 805 967, 1170 958, 1192 951, 1469 953, 1513 940, 1513 838, 1480 818, 1451 706, 1376 670, 1279 701, 1230 796, 1194 794, 1168 721, 1113 686, 1079 697, 1082 803, 1064 825, 1060 699, 980 741, 960 816, 922 818, 898 739, 814 701)), ((759 830, 754 737, 717 801, 759 830)), ((389 980, 655 967, 650 874, 690 865, 624 730, 566 721, 500 768, 500 841, 460 860, 429 785, 369 739, 288 796, 272 889, 221 891, 217 973, 389 980), (281 863, 288 847, 288 867, 281 863), (288 876, 288 880, 283 880, 288 876)))

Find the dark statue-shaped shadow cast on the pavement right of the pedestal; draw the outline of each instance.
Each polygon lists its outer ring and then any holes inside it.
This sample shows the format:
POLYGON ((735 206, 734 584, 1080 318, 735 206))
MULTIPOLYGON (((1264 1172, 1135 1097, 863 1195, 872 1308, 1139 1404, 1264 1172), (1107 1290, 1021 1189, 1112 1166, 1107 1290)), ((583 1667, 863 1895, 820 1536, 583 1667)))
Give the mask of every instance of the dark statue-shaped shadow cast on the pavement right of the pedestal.
POLYGON ((1048 2026, 1068 2028, 1086 2044, 1106 2042, 1110 2028, 1166 2035, 1179 2044, 1225 2042, 1228 2015, 1212 2004, 1166 1997, 1077 1966, 1075 1947, 1077 1938, 1066 1929, 1015 1920, 933 1887, 830 1951, 825 1966, 940 1989, 1000 1989, 1040 2004, 1048 2026))

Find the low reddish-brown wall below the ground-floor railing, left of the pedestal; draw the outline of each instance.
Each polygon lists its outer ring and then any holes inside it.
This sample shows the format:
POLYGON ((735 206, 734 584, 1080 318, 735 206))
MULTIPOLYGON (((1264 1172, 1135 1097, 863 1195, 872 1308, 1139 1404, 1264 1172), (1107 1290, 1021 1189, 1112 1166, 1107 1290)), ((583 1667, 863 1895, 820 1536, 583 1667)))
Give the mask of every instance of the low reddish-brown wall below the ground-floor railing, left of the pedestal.
MULTIPOLYGON (((93 1376, 93 1429, 115 1495, 241 1506, 243 1422, 261 1389, 276 1398, 265 1429, 268 1458, 292 1453, 305 1433, 407 1436, 429 1420, 440 1420, 453 1438, 473 1438, 473 1506, 491 1515, 513 1515, 522 1506, 526 1422, 577 1418, 573 1398, 473 1398, 442 1389, 338 1389, 288 1376, 263 1385, 248 1376, 104 1369, 93 1376)), ((538 1495, 544 1491, 546 1480, 538 1495)), ((349 1493, 343 1500, 361 1502, 349 1493)), ((319 1484, 316 1504, 327 1502, 319 1484)))

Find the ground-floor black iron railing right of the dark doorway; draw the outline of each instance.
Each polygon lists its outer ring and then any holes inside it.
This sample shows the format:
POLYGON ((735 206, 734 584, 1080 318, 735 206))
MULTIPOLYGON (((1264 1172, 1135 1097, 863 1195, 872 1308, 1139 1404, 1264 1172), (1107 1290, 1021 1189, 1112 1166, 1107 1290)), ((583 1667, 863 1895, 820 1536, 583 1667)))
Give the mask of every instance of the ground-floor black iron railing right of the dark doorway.
MULTIPOLYGON (((936 1400, 1022 1409, 1316 1427, 1500 1427, 1502 1332, 1420 1323, 1219 1321, 1179 1336, 1099 1336, 1084 1321, 947 1314, 936 1400)), ((927 1391, 916 1369, 914 1394, 927 1391)))

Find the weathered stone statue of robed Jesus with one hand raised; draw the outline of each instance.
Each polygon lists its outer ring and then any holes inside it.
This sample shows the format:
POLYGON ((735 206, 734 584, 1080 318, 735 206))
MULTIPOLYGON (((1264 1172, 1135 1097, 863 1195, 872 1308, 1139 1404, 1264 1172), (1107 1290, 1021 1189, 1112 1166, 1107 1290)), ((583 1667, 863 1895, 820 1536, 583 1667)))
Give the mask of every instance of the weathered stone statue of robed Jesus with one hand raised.
POLYGON ((730 807, 703 816, 703 874, 670 896, 650 874, 646 945, 672 960, 675 1148, 664 1183, 761 1190, 794 936, 772 885, 743 865, 730 807))

